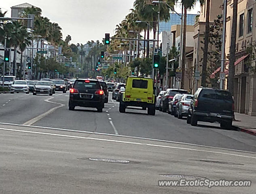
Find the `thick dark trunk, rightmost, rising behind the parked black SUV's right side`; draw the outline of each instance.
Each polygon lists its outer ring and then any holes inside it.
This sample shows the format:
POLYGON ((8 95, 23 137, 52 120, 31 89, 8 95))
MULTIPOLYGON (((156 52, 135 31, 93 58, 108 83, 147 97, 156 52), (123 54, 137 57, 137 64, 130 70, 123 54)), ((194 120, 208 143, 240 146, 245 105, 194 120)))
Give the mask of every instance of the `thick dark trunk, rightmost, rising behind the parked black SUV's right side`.
POLYGON ((228 65, 228 90, 234 95, 235 44, 237 41, 237 1, 233 2, 233 19, 231 28, 230 57, 228 65))

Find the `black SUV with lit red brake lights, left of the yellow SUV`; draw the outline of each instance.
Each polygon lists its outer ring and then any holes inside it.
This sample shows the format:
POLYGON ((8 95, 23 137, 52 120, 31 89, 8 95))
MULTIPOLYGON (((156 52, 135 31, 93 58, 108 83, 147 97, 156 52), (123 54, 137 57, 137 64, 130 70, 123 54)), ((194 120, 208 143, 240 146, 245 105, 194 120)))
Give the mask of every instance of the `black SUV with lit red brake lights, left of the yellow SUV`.
POLYGON ((77 79, 70 89, 68 109, 74 110, 76 106, 97 108, 102 112, 105 95, 98 80, 77 79))

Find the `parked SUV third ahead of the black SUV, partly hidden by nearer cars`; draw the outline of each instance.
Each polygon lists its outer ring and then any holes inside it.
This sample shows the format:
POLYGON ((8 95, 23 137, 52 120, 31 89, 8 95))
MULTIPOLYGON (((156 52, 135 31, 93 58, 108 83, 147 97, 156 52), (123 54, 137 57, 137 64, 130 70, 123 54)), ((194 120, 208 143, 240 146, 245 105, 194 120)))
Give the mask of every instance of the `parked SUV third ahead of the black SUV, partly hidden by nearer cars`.
POLYGON ((188 91, 183 89, 167 89, 165 95, 160 100, 159 110, 163 112, 169 112, 169 103, 171 103, 173 97, 178 93, 187 94, 188 91))

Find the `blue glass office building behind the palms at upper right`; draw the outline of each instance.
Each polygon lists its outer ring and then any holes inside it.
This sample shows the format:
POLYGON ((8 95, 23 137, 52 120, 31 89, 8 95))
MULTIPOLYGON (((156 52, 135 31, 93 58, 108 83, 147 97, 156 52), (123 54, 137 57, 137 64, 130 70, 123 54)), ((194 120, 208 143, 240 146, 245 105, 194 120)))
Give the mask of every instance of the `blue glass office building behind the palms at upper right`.
MULTIPOLYGON (((187 25, 194 25, 195 24, 195 17, 196 14, 187 14, 187 25)), ((171 31, 172 25, 180 25, 181 19, 176 13, 170 13, 170 20, 165 22, 161 21, 159 23, 159 33, 163 31, 171 31)))

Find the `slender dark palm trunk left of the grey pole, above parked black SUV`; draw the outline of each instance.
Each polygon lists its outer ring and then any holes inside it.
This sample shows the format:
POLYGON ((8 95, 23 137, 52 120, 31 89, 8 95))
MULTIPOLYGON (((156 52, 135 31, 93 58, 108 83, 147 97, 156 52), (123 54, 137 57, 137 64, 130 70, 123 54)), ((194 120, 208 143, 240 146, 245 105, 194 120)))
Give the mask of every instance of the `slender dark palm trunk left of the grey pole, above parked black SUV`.
POLYGON ((206 86, 207 55, 208 55, 209 31, 210 31, 209 18, 210 18, 210 0, 207 0, 201 86, 206 86))

